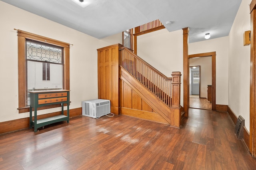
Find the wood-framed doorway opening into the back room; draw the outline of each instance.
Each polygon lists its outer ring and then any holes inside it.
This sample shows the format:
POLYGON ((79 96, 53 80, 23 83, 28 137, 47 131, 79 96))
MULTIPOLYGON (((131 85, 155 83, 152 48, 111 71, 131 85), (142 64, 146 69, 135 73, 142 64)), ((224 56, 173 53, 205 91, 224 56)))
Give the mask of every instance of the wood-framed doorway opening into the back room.
POLYGON ((216 110, 216 53, 193 54, 188 58, 188 107, 216 110))

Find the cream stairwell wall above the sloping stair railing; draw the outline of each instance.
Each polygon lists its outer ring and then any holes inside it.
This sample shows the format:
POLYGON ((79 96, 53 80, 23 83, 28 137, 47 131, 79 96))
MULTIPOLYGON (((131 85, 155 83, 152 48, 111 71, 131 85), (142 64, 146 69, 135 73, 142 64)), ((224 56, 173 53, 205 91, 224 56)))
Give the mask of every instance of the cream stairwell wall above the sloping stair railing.
MULTIPOLYGON (((183 30, 162 29, 138 36, 137 55, 167 77, 172 77, 173 71, 183 74, 183 30)), ((183 106, 183 75, 181 80, 180 105, 183 106)))

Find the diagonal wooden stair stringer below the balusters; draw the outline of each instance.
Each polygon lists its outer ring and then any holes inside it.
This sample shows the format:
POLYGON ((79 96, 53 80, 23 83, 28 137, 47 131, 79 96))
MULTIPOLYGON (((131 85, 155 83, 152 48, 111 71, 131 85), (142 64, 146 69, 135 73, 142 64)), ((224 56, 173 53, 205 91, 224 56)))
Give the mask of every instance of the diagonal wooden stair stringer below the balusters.
POLYGON ((149 89, 120 67, 120 79, 128 84, 152 109, 156 111, 166 122, 174 127, 180 127, 180 108, 170 108, 149 89))

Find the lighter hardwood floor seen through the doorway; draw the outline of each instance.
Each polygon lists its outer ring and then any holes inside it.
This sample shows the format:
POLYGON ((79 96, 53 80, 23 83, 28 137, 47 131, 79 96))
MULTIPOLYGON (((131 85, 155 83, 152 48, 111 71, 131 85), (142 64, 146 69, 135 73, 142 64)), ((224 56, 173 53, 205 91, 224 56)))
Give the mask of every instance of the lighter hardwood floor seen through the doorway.
POLYGON ((199 98, 199 95, 191 95, 189 97, 189 107, 212 110, 212 103, 210 103, 206 98, 199 98))

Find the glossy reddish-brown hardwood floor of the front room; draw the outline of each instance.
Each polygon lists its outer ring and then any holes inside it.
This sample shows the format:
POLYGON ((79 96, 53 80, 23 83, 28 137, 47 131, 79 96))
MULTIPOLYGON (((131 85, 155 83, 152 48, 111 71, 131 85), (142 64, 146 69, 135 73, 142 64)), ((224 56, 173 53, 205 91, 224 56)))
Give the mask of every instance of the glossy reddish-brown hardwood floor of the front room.
POLYGON ((255 170, 228 114, 189 109, 183 126, 124 115, 0 135, 0 169, 255 170))

